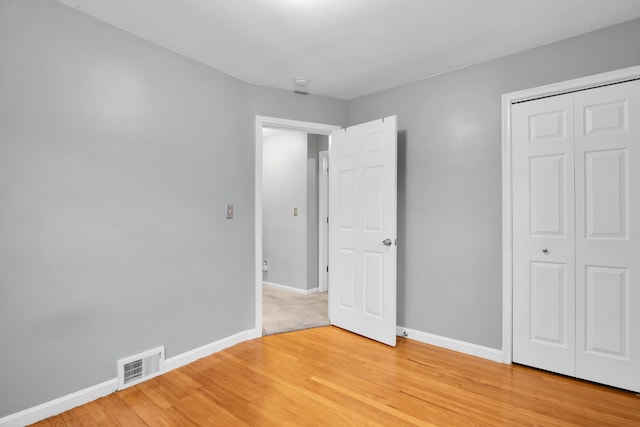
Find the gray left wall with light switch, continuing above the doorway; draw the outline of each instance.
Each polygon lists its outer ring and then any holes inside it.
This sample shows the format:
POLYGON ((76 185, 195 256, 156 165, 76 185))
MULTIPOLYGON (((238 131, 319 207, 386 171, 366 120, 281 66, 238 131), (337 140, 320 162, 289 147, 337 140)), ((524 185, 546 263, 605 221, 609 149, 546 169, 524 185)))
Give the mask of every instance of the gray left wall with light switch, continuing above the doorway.
POLYGON ((255 115, 344 125, 346 102, 50 0, 0 0, 0 58, 0 417, 253 328, 255 115))

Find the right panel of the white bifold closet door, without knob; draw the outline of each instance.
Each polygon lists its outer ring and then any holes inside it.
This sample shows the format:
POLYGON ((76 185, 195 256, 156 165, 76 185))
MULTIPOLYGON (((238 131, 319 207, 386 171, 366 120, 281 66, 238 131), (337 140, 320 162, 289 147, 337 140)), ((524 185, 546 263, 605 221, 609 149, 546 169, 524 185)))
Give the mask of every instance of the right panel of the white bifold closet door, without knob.
POLYGON ((640 391, 640 81, 574 99, 576 375, 640 391))

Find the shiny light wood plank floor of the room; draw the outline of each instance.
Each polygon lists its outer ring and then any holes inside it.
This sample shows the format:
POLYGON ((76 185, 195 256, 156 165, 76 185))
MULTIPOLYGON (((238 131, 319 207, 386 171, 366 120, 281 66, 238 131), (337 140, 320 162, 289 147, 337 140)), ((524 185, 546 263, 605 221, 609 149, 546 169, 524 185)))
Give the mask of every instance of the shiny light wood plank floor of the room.
POLYGON ((334 327, 248 341, 39 426, 640 426, 640 397, 334 327))

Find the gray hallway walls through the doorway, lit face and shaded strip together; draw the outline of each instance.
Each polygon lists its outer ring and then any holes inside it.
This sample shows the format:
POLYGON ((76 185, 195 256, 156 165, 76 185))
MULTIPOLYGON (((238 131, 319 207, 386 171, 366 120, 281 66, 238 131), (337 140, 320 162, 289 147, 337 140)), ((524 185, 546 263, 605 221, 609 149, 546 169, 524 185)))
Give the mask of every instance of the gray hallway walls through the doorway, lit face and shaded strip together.
POLYGON ((262 279, 266 282, 301 290, 318 286, 318 146, 327 140, 295 131, 264 137, 262 253, 269 270, 262 279))

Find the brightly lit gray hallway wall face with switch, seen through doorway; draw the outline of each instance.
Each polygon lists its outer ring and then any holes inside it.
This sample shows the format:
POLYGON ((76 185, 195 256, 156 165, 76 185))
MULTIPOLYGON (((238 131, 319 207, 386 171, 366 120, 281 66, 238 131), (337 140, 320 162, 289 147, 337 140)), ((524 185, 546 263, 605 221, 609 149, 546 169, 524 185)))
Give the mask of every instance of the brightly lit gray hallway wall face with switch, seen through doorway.
POLYGON ((262 158, 263 280, 307 289, 307 134, 265 136, 262 158))

